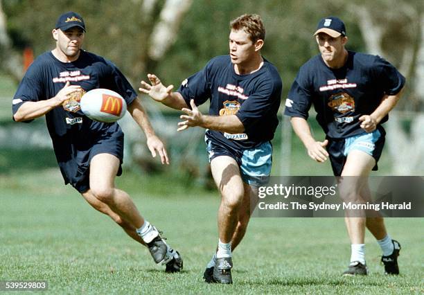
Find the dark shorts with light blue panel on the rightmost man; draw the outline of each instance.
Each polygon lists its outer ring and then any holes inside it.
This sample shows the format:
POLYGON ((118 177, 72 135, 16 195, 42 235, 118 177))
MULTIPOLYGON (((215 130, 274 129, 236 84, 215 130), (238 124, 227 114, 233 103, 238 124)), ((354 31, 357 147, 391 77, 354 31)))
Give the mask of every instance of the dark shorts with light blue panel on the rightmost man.
POLYGON ((342 175, 347 156, 352 150, 361 150, 376 159, 376 166, 373 170, 378 170, 378 160, 385 145, 386 132, 381 126, 371 133, 361 133, 347 138, 329 138, 327 152, 330 154, 331 168, 335 176, 342 175))

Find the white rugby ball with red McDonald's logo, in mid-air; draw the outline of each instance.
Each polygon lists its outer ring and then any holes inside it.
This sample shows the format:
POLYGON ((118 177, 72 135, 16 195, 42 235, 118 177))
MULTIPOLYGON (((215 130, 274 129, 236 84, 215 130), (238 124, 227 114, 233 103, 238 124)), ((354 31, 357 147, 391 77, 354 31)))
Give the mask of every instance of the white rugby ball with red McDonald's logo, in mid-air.
POLYGON ((80 107, 85 116, 103 123, 114 123, 127 112, 127 103, 119 93, 102 88, 87 91, 80 107))

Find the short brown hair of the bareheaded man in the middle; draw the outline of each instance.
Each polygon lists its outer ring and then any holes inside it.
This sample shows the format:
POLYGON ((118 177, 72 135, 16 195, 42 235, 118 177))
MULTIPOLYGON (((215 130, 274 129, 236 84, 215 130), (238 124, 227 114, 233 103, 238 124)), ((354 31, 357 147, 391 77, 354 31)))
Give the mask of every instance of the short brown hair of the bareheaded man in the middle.
POLYGON ((265 26, 260 15, 240 15, 230 21, 231 30, 245 30, 250 35, 252 42, 258 39, 265 40, 265 26))

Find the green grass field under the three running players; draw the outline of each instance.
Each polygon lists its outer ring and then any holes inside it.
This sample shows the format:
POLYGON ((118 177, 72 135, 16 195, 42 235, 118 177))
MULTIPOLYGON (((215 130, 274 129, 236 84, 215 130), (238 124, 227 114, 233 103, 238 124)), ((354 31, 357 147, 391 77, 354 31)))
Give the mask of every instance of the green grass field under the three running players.
POLYGON ((403 246, 400 276, 384 276, 380 249, 369 233, 370 275, 340 276, 350 255, 341 219, 254 218, 234 252, 234 284, 207 285, 202 272, 216 243, 217 195, 186 190, 175 179, 125 175, 119 186, 182 253, 182 273, 165 274, 146 249, 63 186, 58 169, 51 168, 0 175, 0 280, 47 280, 50 294, 424 292, 424 220, 407 218, 386 220, 403 246))

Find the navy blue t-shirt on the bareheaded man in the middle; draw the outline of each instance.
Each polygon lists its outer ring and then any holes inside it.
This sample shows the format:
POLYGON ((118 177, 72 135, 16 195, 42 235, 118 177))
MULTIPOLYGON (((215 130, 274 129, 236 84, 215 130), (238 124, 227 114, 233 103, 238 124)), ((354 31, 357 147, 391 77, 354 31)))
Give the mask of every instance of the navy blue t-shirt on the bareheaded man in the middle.
POLYGON ((202 71, 184 80, 178 92, 188 106, 191 99, 196 105, 210 99, 211 116, 236 114, 245 127, 245 133, 207 130, 206 136, 235 149, 249 149, 274 138, 279 125, 277 112, 282 87, 278 71, 267 60, 264 59, 258 71, 238 75, 230 56, 222 55, 214 57, 202 71))

